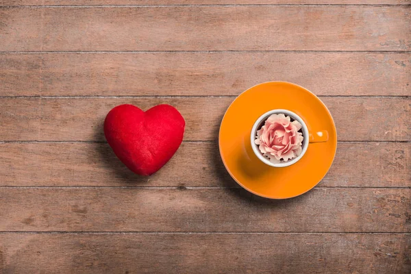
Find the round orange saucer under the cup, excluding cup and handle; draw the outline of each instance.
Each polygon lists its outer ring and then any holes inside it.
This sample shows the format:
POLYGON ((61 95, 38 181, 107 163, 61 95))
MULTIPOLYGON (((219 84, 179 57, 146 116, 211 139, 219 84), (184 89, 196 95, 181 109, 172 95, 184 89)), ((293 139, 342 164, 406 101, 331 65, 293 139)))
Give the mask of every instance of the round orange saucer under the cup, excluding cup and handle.
POLYGON ((310 91, 287 82, 266 82, 242 92, 229 106, 221 121, 219 147, 225 168, 240 186, 262 197, 286 199, 323 179, 336 154, 337 132, 327 107, 310 91), (291 166, 264 164, 251 148, 251 128, 258 117, 275 109, 295 112, 310 132, 326 130, 328 141, 310 143, 291 166))

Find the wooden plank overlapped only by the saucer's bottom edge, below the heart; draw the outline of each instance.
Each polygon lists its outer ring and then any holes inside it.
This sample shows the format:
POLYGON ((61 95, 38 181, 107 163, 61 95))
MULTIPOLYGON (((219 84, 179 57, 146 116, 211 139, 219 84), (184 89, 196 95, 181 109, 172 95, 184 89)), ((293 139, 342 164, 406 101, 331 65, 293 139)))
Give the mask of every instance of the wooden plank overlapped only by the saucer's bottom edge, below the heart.
POLYGON ((410 232, 409 188, 0 188, 3 232, 410 232))

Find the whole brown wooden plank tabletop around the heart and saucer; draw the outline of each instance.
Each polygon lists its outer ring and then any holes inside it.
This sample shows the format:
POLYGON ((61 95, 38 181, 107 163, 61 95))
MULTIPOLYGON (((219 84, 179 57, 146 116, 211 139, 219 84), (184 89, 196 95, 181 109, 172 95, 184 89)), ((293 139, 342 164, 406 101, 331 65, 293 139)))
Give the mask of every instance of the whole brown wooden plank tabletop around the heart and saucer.
POLYGON ((0 0, 0 273, 410 273, 408 0, 0 0), (334 116, 313 190, 242 190, 217 134, 284 80, 334 116), (151 177, 116 159, 115 105, 174 105, 151 177))

